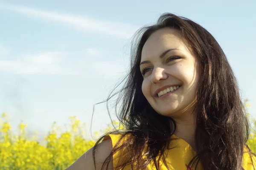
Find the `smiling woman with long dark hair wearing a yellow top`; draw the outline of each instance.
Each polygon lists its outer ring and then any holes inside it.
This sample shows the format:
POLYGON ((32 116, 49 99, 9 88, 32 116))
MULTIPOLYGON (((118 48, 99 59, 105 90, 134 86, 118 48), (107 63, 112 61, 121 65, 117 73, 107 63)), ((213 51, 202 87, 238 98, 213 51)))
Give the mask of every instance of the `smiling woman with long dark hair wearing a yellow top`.
POLYGON ((253 170, 239 88, 215 38, 170 13, 137 34, 116 100, 126 129, 67 170, 253 170))

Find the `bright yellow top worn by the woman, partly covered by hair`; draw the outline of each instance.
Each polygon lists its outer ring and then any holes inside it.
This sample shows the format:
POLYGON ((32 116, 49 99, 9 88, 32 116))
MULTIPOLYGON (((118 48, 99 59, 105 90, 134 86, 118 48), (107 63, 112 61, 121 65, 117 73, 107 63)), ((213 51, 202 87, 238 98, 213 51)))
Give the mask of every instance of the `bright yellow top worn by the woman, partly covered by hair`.
MULTIPOLYGON (((111 138, 112 145, 116 146, 116 143, 120 139, 120 134, 110 134, 109 136, 105 136, 103 140, 111 138)), ((178 138, 177 136, 173 135, 175 140, 172 140, 171 145, 174 147, 170 150, 165 151, 166 163, 170 170, 187 170, 189 162, 192 158, 196 155, 196 152, 192 149, 192 147, 183 139, 178 138), (177 147, 176 147, 177 146, 177 147)), ((122 142, 125 139, 122 140, 122 142)), ((121 144, 122 144, 121 142, 121 144)), ((124 152, 118 151, 117 153, 113 154, 113 167, 114 170, 118 170, 116 168, 123 159, 125 159, 124 152), (119 162, 119 163, 118 163, 119 162)), ((157 160, 158 162, 158 160, 157 160)), ((256 157, 253 157, 253 164, 256 165, 256 157)), ((189 170, 194 170, 195 167, 190 167, 189 170)), ((244 170, 253 170, 252 161, 250 159, 249 153, 245 152, 243 156, 243 168, 244 170)), ((255 166, 256 168, 256 166, 255 166)), ((201 164, 198 165, 198 170, 202 170, 201 164)), ((124 170, 131 170, 131 165, 126 165, 124 170)), ((154 166, 154 162, 151 161, 150 164, 147 166, 147 170, 156 170, 154 166)), ((168 170, 163 162, 160 160, 160 170, 168 170)))

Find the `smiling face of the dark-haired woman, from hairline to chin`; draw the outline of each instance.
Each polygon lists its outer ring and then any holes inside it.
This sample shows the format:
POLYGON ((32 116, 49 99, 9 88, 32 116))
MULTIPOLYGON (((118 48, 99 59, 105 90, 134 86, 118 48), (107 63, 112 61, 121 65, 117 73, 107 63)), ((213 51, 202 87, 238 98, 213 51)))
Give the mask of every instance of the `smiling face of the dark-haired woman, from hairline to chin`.
POLYGON ((140 71, 143 94, 157 113, 173 118, 191 113, 199 77, 198 61, 179 31, 162 28, 148 38, 140 71))

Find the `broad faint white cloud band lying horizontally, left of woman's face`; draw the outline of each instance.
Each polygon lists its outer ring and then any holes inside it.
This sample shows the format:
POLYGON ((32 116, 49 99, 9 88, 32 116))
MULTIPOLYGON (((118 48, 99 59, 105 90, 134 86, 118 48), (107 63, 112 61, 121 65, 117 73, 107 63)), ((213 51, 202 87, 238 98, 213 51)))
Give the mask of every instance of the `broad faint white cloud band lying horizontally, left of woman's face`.
POLYGON ((21 75, 86 76, 93 78, 115 76, 124 71, 122 61, 105 60, 95 48, 87 48, 84 54, 48 51, 20 55, 17 59, 0 59, 0 71, 21 75), (93 74, 92 74, 93 73, 93 74))

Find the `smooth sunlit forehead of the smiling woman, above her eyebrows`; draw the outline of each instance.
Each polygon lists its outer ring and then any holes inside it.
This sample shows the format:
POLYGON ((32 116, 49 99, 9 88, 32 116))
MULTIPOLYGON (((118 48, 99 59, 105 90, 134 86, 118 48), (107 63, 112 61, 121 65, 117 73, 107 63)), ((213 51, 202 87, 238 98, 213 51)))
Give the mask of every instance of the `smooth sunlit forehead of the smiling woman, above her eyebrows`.
POLYGON ((170 48, 177 48, 185 51, 186 45, 180 35, 180 31, 172 28, 162 28, 155 31, 145 42, 141 60, 146 60, 148 57, 159 56, 164 51, 170 48))

